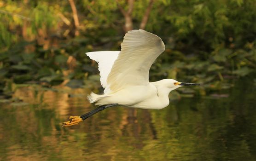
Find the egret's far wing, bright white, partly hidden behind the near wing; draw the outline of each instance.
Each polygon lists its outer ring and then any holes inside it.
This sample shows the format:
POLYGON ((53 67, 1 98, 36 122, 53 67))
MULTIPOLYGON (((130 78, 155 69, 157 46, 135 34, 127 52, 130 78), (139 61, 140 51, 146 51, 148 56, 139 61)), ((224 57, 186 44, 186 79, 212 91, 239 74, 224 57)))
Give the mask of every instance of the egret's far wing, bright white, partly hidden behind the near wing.
MULTIPOLYGON (((107 77, 120 51, 87 52, 90 59, 95 60, 99 65, 100 83, 103 88, 107 86, 107 77)), ((106 90, 106 89, 105 89, 106 90)), ((104 93, 105 93, 104 90, 104 93)))

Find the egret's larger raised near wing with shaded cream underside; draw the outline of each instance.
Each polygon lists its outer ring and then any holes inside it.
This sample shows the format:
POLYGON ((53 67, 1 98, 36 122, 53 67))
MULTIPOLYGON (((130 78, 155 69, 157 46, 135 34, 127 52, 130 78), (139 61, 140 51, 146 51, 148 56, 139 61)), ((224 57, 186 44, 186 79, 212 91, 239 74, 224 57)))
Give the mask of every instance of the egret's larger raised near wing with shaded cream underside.
POLYGON ((130 85, 147 85, 149 69, 165 50, 163 41, 145 30, 131 30, 125 34, 121 52, 107 78, 107 86, 117 91, 130 85))

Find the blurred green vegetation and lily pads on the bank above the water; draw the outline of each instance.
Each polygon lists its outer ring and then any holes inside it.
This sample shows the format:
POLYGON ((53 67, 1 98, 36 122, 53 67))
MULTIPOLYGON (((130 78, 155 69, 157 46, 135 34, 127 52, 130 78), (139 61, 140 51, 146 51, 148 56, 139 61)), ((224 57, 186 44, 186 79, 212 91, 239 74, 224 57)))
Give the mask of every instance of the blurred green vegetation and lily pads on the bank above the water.
POLYGON ((256 71, 255 6, 256 0, 0 0, 0 93, 11 96, 13 83, 96 90, 97 63, 85 52, 120 50, 130 29, 152 32, 166 45, 151 81, 202 83, 198 95, 229 88, 230 80, 256 71))

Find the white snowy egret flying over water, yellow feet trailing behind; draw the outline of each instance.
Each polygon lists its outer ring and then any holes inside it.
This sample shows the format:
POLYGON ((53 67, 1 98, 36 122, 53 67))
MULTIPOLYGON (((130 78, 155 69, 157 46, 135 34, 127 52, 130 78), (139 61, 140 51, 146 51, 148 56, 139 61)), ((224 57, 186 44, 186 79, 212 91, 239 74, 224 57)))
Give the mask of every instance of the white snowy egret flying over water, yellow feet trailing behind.
POLYGON ((180 86, 199 85, 173 79, 149 82, 149 69, 165 50, 163 41, 145 30, 125 34, 121 52, 87 52, 99 64, 100 83, 104 94, 91 93, 90 103, 99 105, 81 116, 70 116, 63 126, 73 126, 106 108, 122 105, 140 109, 163 109, 169 105, 169 92, 180 86))

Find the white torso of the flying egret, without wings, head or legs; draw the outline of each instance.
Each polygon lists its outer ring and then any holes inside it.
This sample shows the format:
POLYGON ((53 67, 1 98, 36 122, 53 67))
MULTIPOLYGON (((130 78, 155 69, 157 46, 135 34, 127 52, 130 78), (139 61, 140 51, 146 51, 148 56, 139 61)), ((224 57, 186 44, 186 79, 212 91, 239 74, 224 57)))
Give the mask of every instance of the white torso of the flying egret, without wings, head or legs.
POLYGON ((155 85, 156 83, 152 82, 144 86, 127 86, 111 94, 94 95, 94 97, 100 98, 96 101, 96 105, 120 104, 141 109, 162 109, 169 104, 169 91, 159 93, 159 87, 155 85))

